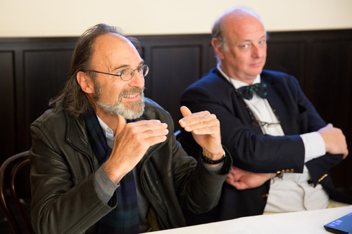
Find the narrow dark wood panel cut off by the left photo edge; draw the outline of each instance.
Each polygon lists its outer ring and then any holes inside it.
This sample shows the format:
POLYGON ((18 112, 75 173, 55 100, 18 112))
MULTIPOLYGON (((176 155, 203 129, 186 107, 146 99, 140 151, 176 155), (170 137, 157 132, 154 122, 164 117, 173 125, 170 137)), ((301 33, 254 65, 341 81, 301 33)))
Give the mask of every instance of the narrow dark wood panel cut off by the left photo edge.
MULTIPOLYGON (((0 52, 0 148, 1 153, 15 153, 15 88, 13 53, 0 52)), ((5 158, 0 158, 0 163, 5 158)))

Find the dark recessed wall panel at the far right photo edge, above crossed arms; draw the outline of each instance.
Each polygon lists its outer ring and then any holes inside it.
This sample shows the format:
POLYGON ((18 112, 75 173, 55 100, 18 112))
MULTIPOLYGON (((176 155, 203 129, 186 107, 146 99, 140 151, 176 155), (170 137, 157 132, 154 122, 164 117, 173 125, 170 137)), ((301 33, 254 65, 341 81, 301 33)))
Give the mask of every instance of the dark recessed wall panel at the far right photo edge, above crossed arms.
POLYGON ((352 41, 316 41, 313 45, 313 65, 310 69, 310 96, 315 108, 327 122, 338 122, 339 127, 346 129, 348 115, 337 115, 348 110, 351 100, 351 57, 352 41), (350 49, 348 49, 350 47, 350 49), (350 75, 348 77, 348 74, 350 75))

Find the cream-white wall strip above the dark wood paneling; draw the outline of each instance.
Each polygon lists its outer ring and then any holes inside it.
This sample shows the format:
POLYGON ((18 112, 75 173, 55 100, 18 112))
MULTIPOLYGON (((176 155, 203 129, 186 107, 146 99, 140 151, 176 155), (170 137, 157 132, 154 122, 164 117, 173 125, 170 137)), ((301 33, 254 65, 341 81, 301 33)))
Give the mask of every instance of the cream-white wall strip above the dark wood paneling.
POLYGON ((0 0, 0 37, 79 36, 99 22, 125 34, 202 34, 234 6, 271 32, 352 28, 352 0, 0 0))

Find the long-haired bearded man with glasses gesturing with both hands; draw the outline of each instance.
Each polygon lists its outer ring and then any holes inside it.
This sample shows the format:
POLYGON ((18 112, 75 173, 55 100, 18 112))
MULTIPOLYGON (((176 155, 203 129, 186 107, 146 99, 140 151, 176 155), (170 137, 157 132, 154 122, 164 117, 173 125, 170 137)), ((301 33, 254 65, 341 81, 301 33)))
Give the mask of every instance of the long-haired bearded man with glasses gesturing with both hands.
POLYGON ((232 165, 218 119, 181 108, 180 125, 201 146, 197 162, 168 112, 144 98, 149 67, 136 47, 115 27, 84 32, 65 88, 30 126, 35 233, 177 228, 186 224, 181 207, 199 213, 218 203, 232 165))

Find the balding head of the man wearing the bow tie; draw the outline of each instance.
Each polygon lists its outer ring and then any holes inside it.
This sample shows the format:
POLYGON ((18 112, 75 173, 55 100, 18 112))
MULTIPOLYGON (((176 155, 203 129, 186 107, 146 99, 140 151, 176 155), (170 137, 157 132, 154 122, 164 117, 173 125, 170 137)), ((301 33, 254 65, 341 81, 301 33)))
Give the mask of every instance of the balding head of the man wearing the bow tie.
POLYGON ((256 13, 233 8, 213 27, 211 44, 222 71, 228 77, 251 84, 263 70, 267 34, 256 13))

